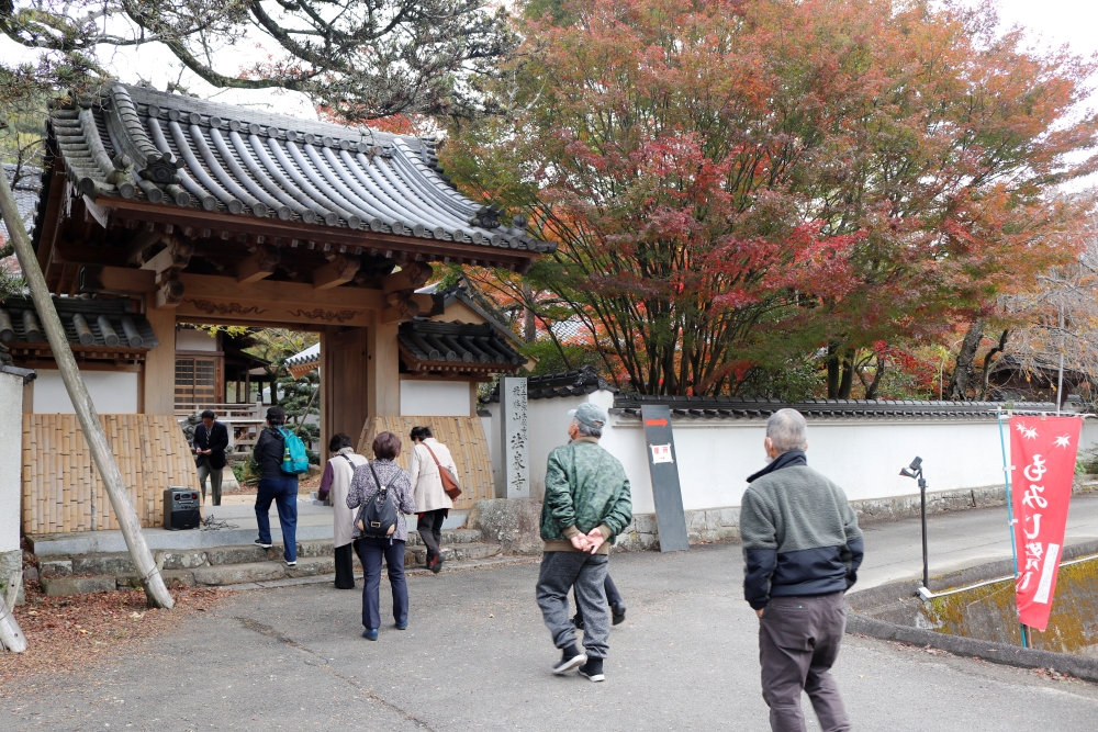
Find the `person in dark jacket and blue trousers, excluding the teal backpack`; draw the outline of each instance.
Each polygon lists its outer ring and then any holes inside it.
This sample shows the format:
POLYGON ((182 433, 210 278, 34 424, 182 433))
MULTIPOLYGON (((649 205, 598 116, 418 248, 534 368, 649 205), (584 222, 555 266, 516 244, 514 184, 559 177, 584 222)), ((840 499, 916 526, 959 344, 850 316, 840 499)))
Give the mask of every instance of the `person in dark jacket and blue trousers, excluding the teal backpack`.
POLYGON ((253 454, 259 464, 259 492, 256 495, 256 521, 259 538, 256 544, 271 548, 271 502, 278 506, 278 521, 282 526, 282 556, 287 566, 298 566, 298 476, 283 470, 287 461, 285 438, 280 428, 285 424, 285 410, 271 407, 267 410, 264 428, 253 454))

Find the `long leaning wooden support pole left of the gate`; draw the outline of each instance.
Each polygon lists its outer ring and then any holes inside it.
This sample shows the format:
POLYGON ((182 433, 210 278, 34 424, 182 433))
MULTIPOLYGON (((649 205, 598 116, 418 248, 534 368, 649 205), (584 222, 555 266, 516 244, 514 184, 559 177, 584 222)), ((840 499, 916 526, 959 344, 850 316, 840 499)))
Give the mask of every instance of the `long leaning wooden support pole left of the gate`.
MULTIPOLYGON (((91 402, 88 388, 80 376, 80 369, 72 356, 68 338, 61 319, 54 307, 53 299, 49 296, 49 288, 46 285, 46 278, 38 267, 38 258, 31 248, 31 240, 26 236, 23 227, 23 219, 19 215, 19 206, 15 204, 15 196, 8 184, 8 177, 0 176, 0 215, 8 224, 8 233, 12 246, 15 248, 15 256, 19 264, 23 269, 23 277, 26 278, 31 289, 31 300, 34 308, 38 312, 42 325, 46 331, 46 339, 49 341, 49 349, 54 352, 54 360, 57 362, 57 370, 60 371, 61 381, 76 408, 77 417, 83 436, 91 448, 91 457, 99 470, 99 476, 103 481, 107 493, 117 516, 122 536, 126 540, 126 548, 133 559, 134 566, 137 567, 137 576, 141 578, 142 587, 149 607, 170 608, 175 605, 171 594, 168 593, 164 584, 164 577, 153 561, 153 553, 148 550, 145 534, 141 530, 141 521, 134 510, 130 496, 126 494, 126 486, 122 481, 122 473, 111 453, 111 446, 107 441, 107 433, 103 425, 99 421, 99 414, 96 405, 91 402)), ((94 488, 92 488, 94 489, 94 488)), ((2 620, 0 620, 2 623, 2 620)))

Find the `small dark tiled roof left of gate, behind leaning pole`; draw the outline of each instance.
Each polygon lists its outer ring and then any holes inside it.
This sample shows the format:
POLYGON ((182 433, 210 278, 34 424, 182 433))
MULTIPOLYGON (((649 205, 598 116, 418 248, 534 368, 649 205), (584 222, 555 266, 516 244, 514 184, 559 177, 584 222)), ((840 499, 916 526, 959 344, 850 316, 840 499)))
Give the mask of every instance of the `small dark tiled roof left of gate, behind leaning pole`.
MULTIPOLYGON (((54 297, 54 305, 74 349, 147 351, 160 345, 128 300, 54 297)), ((16 353, 49 348, 34 303, 22 297, 0 303, 0 342, 16 353)))

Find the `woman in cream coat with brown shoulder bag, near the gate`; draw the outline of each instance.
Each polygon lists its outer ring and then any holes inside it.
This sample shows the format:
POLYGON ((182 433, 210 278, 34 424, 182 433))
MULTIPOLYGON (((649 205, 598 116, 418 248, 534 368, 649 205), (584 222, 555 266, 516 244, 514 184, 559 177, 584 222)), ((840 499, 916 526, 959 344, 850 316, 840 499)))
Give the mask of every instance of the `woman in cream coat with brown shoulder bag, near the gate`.
POLYGON ((439 542, 442 539, 442 521, 453 508, 453 502, 446 495, 442 487, 442 476, 439 470, 450 472, 453 482, 458 482, 458 468, 449 449, 436 440, 430 433, 430 427, 413 427, 412 455, 408 459, 408 475, 412 476, 412 488, 415 491, 415 511, 418 515, 416 528, 427 547, 427 568, 438 574, 442 568, 442 555, 439 542))

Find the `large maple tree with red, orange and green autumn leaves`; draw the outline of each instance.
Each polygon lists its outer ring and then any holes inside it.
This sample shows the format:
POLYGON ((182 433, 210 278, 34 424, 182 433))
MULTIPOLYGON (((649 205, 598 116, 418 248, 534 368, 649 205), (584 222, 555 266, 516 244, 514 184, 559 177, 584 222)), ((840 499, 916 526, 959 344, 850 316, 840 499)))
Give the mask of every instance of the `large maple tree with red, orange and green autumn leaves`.
POLYGON ((632 388, 768 391, 815 362, 849 396, 882 344, 940 341, 1074 257, 1089 201, 1055 187, 1095 167, 1094 65, 987 5, 526 10, 506 114, 455 122, 444 157, 560 243, 528 281, 632 388))

